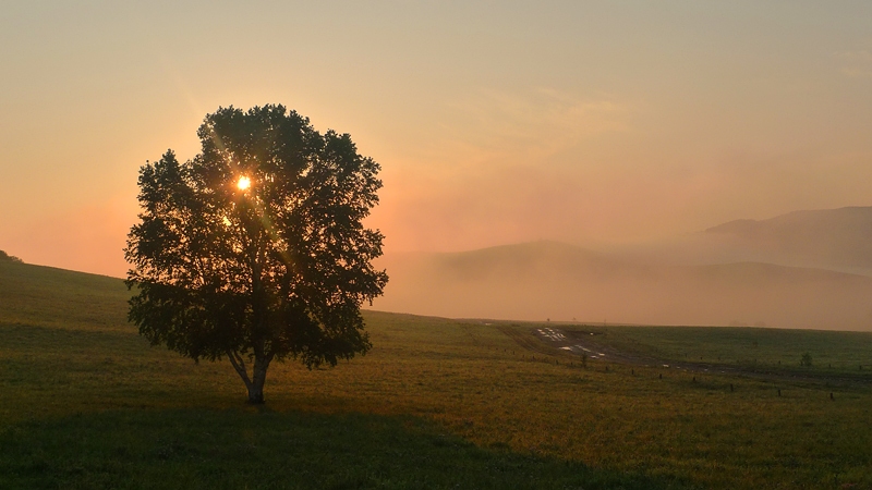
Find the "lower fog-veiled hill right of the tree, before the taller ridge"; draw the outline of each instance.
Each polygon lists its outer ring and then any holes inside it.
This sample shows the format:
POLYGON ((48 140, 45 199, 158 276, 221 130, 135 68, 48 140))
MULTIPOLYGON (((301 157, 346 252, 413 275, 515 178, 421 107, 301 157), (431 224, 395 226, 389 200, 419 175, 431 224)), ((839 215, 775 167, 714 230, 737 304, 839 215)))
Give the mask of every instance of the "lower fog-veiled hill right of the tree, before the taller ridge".
POLYGON ((872 330, 872 278, 761 262, 666 265, 554 242, 399 254, 373 308, 420 315, 872 330))

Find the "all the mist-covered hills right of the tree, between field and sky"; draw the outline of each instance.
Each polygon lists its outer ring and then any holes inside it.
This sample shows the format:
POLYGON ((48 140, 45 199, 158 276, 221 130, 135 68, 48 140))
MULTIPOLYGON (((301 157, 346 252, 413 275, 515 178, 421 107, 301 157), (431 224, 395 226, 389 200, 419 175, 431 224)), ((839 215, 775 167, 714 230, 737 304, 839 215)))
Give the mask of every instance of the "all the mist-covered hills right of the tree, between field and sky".
POLYGON ((393 254, 373 308, 465 318, 872 330, 872 208, 732 221, 594 250, 540 241, 393 254))

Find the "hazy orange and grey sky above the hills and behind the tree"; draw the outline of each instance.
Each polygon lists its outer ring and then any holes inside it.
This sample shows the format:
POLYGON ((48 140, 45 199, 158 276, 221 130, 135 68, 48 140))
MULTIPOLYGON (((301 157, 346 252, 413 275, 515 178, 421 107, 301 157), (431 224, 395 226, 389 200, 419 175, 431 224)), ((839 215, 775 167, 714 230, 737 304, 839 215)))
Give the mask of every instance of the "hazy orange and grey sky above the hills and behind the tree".
POLYGON ((230 105, 350 133, 388 253, 872 205, 865 0, 7 0, 0 47, 0 249, 33 264, 123 275, 140 166, 230 105))

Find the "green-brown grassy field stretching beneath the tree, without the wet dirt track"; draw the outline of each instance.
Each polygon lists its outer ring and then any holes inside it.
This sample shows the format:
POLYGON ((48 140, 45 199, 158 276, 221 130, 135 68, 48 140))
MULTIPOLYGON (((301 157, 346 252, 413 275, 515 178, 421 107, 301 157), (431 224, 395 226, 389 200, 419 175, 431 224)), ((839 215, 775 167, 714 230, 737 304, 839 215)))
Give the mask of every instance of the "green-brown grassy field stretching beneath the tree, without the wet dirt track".
POLYGON ((529 343, 536 323, 366 311, 366 356, 274 365, 252 407, 229 363, 138 336, 129 295, 118 279, 0 262, 0 488, 872 488, 870 333, 598 336, 784 369, 810 352, 796 369, 814 376, 791 381, 582 367, 529 343))

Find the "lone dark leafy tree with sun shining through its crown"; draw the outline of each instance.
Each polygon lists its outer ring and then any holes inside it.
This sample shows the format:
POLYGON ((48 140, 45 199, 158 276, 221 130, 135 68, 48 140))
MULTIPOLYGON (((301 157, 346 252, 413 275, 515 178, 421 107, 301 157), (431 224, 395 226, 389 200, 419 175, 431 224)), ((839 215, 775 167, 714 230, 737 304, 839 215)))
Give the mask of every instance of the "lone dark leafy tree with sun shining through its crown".
POLYGON ((228 357, 264 403, 271 362, 336 366, 371 347, 360 307, 388 278, 372 266, 383 235, 362 220, 379 166, 282 106, 219 108, 197 136, 193 160, 168 150, 140 169, 129 318, 153 345, 228 357))

